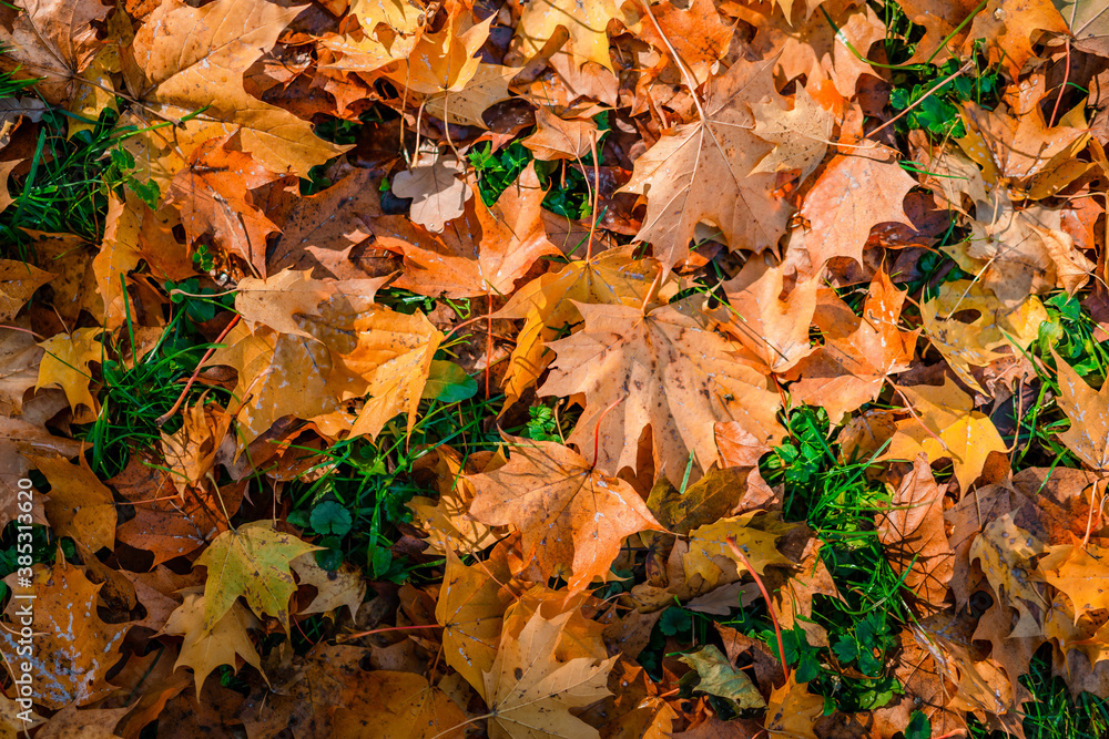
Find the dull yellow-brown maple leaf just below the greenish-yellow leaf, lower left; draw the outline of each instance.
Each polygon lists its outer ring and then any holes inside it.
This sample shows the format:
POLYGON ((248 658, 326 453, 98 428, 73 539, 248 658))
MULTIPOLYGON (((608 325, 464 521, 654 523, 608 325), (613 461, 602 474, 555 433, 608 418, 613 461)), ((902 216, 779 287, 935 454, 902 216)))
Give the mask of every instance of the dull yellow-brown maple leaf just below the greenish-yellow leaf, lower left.
MULTIPOLYGON (((262 657, 246 629, 257 625, 257 619, 238 603, 221 616, 211 628, 205 627, 205 596, 187 593, 162 629, 165 634, 184 636, 177 661, 173 667, 192 667, 200 698, 204 680, 220 665, 236 667, 235 658, 242 657, 247 665, 262 670, 262 657)), ((236 670, 237 671, 237 670, 236 670)))

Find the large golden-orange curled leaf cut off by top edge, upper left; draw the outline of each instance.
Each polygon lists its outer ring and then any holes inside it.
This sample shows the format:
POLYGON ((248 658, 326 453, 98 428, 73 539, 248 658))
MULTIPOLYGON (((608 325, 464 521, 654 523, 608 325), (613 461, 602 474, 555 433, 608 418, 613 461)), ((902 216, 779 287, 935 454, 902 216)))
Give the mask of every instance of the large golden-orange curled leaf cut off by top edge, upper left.
POLYGON ((167 0, 139 29, 125 54, 128 89, 160 120, 205 109, 197 116, 195 130, 203 133, 196 145, 237 125, 244 151, 267 170, 307 177, 309 168, 349 147, 316 137, 306 121, 247 94, 242 81, 243 71, 273 48, 305 8, 263 0, 216 0, 193 8, 167 0), (182 39, 189 43, 182 45, 182 39))

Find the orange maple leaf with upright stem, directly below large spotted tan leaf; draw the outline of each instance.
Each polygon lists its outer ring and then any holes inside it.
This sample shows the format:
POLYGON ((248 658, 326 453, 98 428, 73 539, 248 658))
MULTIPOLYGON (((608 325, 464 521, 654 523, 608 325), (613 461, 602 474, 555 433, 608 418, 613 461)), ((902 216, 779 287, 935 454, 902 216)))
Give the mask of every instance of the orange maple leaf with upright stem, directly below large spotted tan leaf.
POLYGON ((566 575, 570 591, 606 578, 620 543, 660 528, 639 493, 608 478, 570 449, 549 441, 508 437, 508 464, 469 476, 477 491, 470 515, 523 534, 525 560, 547 577, 566 575))

